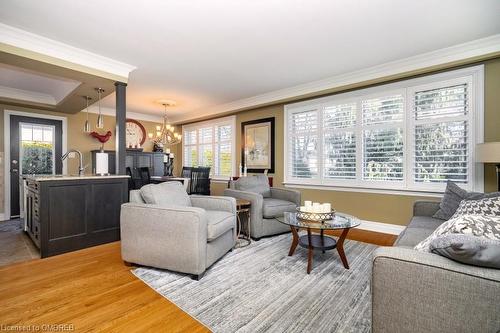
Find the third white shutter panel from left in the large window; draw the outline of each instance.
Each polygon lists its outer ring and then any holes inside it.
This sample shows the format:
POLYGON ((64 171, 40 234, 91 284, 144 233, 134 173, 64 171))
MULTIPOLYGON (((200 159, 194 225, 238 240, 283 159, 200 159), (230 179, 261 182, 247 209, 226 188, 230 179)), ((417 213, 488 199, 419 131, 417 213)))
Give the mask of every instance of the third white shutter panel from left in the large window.
POLYGON ((361 111, 363 179, 403 181, 403 95, 362 100, 361 111))

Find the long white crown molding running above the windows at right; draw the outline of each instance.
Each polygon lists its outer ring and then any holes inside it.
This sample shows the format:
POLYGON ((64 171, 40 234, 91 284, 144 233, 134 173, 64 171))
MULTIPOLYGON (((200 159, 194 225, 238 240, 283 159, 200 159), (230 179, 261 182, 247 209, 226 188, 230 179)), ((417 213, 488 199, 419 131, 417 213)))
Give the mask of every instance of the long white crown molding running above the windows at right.
POLYGON ((457 44, 451 47, 387 62, 381 65, 367 67, 358 71, 340 74, 290 88, 275 90, 269 93, 240 99, 226 104, 198 109, 185 113, 185 116, 182 118, 175 118, 173 120, 176 123, 183 123, 221 113, 243 111, 259 106, 284 102, 290 99, 312 97, 311 95, 317 96, 321 95, 321 92, 343 86, 401 75, 404 73, 411 73, 425 68, 442 66, 445 64, 499 53, 500 34, 497 34, 471 42, 457 44))

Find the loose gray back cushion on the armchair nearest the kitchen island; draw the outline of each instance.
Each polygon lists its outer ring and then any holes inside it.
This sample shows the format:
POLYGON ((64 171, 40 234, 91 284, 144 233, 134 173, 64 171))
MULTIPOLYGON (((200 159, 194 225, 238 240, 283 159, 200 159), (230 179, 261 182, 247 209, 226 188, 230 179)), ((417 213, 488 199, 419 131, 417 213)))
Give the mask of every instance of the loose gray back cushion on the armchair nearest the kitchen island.
POLYGON ((191 199, 180 182, 164 182, 141 187, 141 196, 147 204, 162 207, 191 206, 191 199))

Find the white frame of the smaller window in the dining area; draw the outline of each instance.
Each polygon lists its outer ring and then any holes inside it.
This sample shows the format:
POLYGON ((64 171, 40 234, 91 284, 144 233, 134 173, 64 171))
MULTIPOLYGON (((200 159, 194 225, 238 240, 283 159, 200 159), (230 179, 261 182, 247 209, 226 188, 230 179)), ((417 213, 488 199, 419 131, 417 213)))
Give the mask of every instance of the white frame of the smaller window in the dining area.
POLYGON ((182 133, 186 133, 186 131, 194 131, 196 130, 196 144, 189 144, 187 145, 184 138, 182 140, 182 165, 184 166, 184 149, 186 146, 195 146, 196 150, 198 152, 198 164, 202 165, 202 155, 200 154, 200 146, 206 145, 206 144, 200 144, 200 133, 199 129, 201 128, 206 128, 206 127, 212 127, 212 152, 214 156, 214 163, 215 161, 215 150, 217 148, 217 144, 215 141, 215 128, 217 126, 231 126, 231 139, 229 140, 231 142, 231 175, 230 176, 222 176, 222 175, 216 175, 214 174, 215 172, 215 166, 212 166, 212 170, 210 171, 212 180, 224 180, 227 181, 229 177, 235 176, 236 173, 236 116, 229 116, 229 117, 224 117, 224 118, 217 118, 213 120, 207 120, 207 121, 201 121, 197 123, 192 123, 192 124, 187 124, 182 126, 182 133))

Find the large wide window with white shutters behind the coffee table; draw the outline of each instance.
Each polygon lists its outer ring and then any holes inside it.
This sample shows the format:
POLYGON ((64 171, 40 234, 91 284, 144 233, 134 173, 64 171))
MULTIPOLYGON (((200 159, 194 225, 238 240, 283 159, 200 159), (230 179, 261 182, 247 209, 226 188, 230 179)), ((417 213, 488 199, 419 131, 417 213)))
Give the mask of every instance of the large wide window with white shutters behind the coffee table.
POLYGON ((285 183, 481 190, 482 66, 285 106, 285 183))

